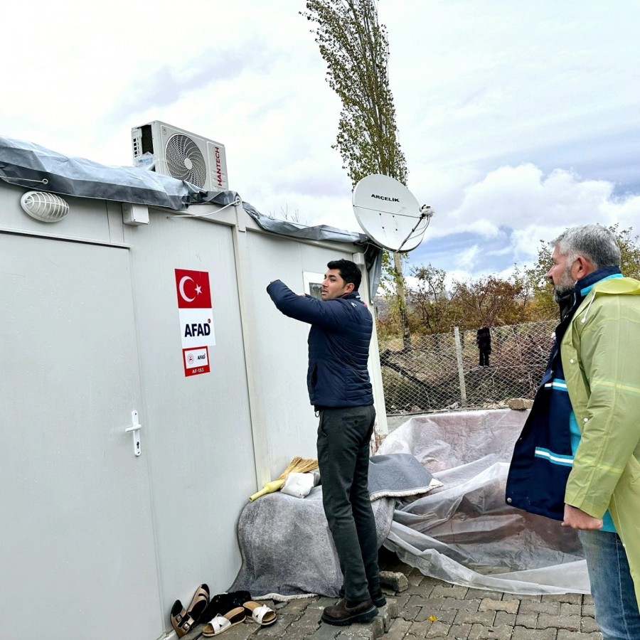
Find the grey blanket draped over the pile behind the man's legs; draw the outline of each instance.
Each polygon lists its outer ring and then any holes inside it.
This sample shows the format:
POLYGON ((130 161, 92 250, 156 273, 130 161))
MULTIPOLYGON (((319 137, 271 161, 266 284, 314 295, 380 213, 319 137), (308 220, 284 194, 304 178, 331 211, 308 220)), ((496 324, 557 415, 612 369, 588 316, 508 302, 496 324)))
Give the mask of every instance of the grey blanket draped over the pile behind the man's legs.
MULTIPOLYGON (((410 454, 370 460, 369 489, 375 491, 371 506, 382 546, 393 521, 393 496, 425 494, 433 482, 440 483, 410 454)), ((248 503, 240 513, 238 543, 242 567, 229 591, 247 590, 256 599, 337 597, 342 572, 324 516, 322 486, 306 498, 277 491, 248 503)))

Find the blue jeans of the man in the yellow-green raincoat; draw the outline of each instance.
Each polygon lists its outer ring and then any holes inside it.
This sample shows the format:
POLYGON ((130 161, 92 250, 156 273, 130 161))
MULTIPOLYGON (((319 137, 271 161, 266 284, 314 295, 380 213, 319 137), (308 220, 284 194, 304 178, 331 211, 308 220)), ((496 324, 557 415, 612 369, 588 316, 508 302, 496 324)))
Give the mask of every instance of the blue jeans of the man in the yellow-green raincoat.
POLYGON ((626 552, 617 533, 578 531, 585 550, 596 622, 603 640, 640 639, 640 613, 626 552))

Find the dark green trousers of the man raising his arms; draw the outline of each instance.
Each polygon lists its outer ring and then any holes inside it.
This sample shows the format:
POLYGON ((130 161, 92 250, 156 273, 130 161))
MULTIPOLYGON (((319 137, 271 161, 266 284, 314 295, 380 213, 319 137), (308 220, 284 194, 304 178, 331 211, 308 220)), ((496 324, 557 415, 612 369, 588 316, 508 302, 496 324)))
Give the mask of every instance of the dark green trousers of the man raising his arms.
POLYGON ((334 538, 348 602, 380 590, 378 540, 368 491, 373 405, 324 409, 318 427, 318 464, 324 513, 334 538))

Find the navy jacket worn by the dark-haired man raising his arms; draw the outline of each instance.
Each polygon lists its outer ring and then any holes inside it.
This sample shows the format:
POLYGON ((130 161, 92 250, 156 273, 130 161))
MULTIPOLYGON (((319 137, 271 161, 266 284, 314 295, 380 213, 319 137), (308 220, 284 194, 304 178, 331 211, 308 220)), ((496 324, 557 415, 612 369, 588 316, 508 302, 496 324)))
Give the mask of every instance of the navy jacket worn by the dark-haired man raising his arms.
POLYGON ((367 370, 373 318, 358 292, 332 300, 299 296, 276 280, 267 287, 285 316, 308 322, 306 385, 316 407, 373 405, 367 370))

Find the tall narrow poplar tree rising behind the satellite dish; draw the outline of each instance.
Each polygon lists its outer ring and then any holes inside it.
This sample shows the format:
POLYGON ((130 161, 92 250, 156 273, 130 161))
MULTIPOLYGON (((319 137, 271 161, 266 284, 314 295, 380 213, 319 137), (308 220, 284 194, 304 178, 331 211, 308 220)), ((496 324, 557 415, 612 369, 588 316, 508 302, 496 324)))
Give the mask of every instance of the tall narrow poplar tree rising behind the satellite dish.
MULTIPOLYGON (((407 163, 398 142, 393 95, 389 88, 389 42, 378 23, 375 0, 307 0, 301 14, 314 23, 327 82, 342 102, 334 149, 352 185, 370 174, 407 183, 407 163)), ((409 320, 402 257, 385 254, 383 269, 393 279, 405 346, 409 320)))

